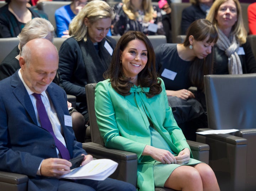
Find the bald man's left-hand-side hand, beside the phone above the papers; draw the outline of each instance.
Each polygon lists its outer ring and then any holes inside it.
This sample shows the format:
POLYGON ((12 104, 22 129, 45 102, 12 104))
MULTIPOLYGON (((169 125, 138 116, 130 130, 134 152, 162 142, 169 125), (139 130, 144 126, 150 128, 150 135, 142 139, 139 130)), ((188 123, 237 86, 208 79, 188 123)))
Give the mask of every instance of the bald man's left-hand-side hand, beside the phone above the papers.
POLYGON ((70 173, 72 164, 61 158, 44 159, 41 164, 40 174, 42 176, 58 177, 70 173))

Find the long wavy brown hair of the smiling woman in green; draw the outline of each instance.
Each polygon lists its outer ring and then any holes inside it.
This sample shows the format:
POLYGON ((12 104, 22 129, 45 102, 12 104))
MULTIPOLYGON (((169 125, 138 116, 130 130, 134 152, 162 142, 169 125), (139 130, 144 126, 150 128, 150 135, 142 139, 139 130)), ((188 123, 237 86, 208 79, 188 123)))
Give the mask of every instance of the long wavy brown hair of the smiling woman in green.
POLYGON ((125 77, 123 73, 122 63, 120 63, 121 54, 132 40, 142 40, 145 43, 148 51, 148 61, 144 69, 138 74, 138 83, 141 87, 149 87, 148 97, 153 97, 161 93, 161 81, 157 78, 155 69, 155 52, 153 46, 145 34, 139 31, 128 31, 118 40, 116 48, 112 56, 111 64, 108 70, 104 73, 105 79, 110 79, 111 86, 121 95, 129 95, 130 88, 133 83, 130 78, 125 77))

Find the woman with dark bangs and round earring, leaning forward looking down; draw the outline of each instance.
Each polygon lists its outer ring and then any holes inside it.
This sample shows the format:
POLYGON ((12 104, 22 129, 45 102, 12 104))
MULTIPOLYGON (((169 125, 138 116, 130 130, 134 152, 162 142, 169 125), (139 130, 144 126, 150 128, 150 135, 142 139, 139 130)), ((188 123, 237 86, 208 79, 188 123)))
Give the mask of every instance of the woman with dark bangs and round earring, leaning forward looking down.
MULTIPOLYGON (((197 119, 197 129, 207 127, 203 76, 213 72, 212 50, 217 39, 214 25, 206 19, 198 19, 188 28, 184 43, 161 44, 155 49, 156 71, 165 82, 169 105, 181 128, 186 122, 197 119), (196 95, 188 90, 191 86, 197 87, 196 95)), ((184 133, 187 139, 195 139, 195 133, 184 133)))

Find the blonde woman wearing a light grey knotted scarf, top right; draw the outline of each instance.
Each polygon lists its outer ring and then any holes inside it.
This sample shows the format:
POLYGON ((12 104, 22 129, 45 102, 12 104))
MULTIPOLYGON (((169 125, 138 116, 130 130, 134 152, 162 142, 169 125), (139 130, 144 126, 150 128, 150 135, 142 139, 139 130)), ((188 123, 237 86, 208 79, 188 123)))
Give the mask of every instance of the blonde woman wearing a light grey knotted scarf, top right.
POLYGON ((218 29, 214 74, 255 73, 256 61, 241 15, 238 0, 215 0, 206 17, 218 29))

